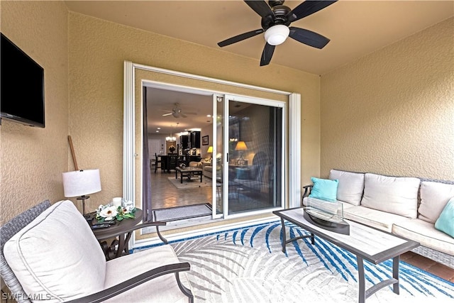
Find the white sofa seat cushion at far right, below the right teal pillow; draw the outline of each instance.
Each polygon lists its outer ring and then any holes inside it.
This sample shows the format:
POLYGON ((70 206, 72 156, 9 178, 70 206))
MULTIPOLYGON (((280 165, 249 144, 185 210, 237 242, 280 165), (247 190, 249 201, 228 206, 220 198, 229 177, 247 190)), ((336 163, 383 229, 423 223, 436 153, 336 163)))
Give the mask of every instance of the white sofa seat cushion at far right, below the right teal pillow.
POLYGON ((422 246, 453 255, 454 258, 454 238, 436 230, 435 226, 429 222, 420 219, 405 219, 394 224, 392 233, 417 241, 422 246))

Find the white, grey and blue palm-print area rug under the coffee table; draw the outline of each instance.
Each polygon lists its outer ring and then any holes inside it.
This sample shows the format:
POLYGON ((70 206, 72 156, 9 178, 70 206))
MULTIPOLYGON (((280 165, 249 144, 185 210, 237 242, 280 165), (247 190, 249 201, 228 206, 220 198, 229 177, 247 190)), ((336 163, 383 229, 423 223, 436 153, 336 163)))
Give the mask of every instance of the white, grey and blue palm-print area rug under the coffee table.
MULTIPOLYGON (((171 242, 179 260, 189 262, 195 302, 358 302, 358 266, 347 250, 316 237, 287 244, 275 221, 171 242)), ((290 237, 306 234, 286 226, 290 237)), ((288 238, 287 236, 287 238, 288 238)), ((366 289, 392 277, 392 260, 365 260, 366 289)), ((454 283, 400 262, 400 294, 384 287, 366 303, 454 302, 454 283)))

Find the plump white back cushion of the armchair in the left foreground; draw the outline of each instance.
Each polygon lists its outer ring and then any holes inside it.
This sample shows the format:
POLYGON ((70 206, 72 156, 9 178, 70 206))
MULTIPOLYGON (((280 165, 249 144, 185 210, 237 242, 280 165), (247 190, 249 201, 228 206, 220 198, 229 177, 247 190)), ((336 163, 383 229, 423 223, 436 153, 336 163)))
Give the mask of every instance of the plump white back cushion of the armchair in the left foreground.
POLYGON ((104 253, 69 200, 53 204, 16 233, 5 243, 4 255, 35 301, 68 301, 104 285, 104 253))

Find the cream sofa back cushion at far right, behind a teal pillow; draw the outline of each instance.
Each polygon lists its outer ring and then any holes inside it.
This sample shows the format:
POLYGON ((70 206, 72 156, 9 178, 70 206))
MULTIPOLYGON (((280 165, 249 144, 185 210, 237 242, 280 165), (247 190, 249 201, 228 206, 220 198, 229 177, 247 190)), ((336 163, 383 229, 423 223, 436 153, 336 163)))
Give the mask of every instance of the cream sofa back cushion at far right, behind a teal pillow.
POLYGON ((454 197, 454 184, 423 181, 420 194, 418 219, 435 224, 448 200, 454 197))

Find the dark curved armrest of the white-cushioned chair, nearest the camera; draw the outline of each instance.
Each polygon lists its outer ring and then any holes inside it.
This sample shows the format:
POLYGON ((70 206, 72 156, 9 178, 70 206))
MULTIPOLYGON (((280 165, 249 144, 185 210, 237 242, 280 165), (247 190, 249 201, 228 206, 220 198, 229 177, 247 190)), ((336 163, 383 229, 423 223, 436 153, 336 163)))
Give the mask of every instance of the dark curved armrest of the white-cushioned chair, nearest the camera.
MULTIPOLYGON (((121 282, 118 285, 114 285, 109 287, 106 290, 101 290, 101 292, 96 292, 95 294, 89 294, 86 297, 81 297, 74 299, 72 301, 67 301, 71 303, 85 303, 85 302, 103 302, 106 299, 110 299, 111 297, 115 297, 118 294, 126 292, 127 290, 131 290, 132 288, 141 285, 145 282, 153 280, 155 277, 160 277, 162 275, 167 275, 170 273, 175 273, 175 277, 177 278, 177 283, 179 289, 189 297, 190 302, 194 299, 192 292, 184 287, 181 282, 179 281, 179 272, 190 270, 191 265, 189 263, 174 263, 169 265, 163 265, 159 268, 153 268, 153 270, 148 270, 147 272, 143 272, 143 274, 133 277, 129 280, 121 282)), ((165 290, 162 290, 165 291, 165 290)))

